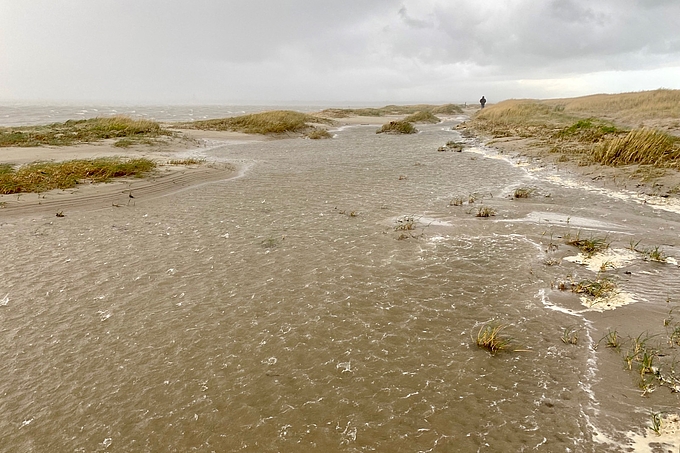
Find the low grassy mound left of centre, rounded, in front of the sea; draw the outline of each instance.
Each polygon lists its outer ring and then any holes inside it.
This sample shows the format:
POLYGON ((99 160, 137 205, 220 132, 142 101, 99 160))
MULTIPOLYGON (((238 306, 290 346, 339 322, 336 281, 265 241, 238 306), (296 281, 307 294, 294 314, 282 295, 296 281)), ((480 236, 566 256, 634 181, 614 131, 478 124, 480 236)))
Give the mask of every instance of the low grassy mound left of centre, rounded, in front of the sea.
POLYGON ((180 129, 198 129, 206 131, 233 131, 246 134, 278 135, 287 133, 306 133, 316 124, 332 124, 333 121, 319 116, 292 110, 272 110, 249 115, 218 118, 212 120, 179 123, 180 129))

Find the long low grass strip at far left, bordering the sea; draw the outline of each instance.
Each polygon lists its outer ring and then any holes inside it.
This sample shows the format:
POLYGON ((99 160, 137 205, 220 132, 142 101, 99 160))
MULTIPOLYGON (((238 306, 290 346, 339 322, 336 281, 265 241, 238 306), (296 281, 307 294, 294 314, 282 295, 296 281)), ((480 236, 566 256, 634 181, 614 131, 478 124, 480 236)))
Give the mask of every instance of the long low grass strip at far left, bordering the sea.
POLYGON ((134 143, 153 142, 162 136, 172 136, 155 121, 133 120, 126 116, 68 120, 45 126, 0 128, 0 147, 3 146, 69 146, 119 139, 120 147, 134 143))

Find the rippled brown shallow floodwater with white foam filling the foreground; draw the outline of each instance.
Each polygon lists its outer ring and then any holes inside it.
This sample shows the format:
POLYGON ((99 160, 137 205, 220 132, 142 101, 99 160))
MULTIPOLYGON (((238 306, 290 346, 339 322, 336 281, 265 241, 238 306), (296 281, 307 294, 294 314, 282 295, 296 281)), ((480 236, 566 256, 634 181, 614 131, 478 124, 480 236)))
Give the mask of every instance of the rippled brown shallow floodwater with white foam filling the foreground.
POLYGON ((0 221, 2 451, 652 451, 677 394, 642 397, 594 346, 663 331, 677 265, 609 271, 636 302, 599 312, 553 289, 594 273, 546 249, 678 257, 680 217, 474 141, 437 152, 453 124, 225 144, 196 152, 236 178, 0 221), (518 351, 476 346, 490 321, 518 351))

